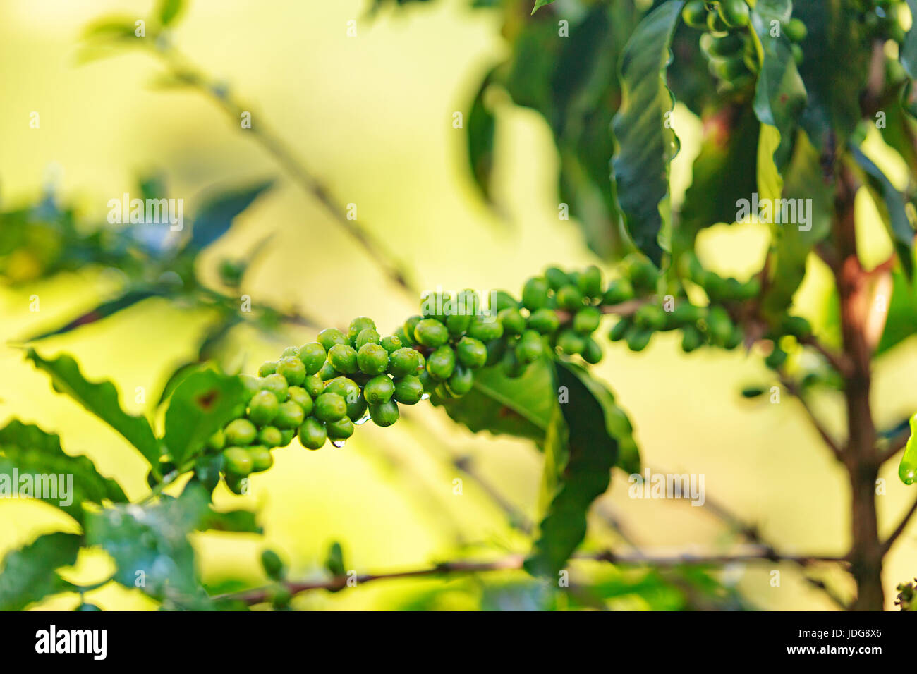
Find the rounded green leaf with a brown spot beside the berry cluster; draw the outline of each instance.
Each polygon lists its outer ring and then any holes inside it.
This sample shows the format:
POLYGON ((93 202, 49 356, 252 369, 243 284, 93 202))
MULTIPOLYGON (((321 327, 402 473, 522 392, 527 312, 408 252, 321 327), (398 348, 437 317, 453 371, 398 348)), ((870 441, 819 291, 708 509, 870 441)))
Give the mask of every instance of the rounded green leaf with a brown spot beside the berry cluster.
POLYGON ((182 381, 171 395, 162 437, 175 465, 193 459, 208 437, 238 416, 240 405, 245 399, 238 377, 202 370, 182 381))

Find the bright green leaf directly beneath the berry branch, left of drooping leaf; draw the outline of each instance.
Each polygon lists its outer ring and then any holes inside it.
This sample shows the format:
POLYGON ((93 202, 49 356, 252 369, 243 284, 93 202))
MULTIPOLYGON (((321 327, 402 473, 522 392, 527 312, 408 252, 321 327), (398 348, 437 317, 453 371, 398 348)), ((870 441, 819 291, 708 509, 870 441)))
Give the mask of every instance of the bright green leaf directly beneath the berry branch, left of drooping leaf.
POLYGON ((545 438, 551 409, 557 399, 547 359, 532 363, 517 379, 503 375, 499 365, 475 374, 474 386, 461 398, 441 400, 446 413, 474 433, 525 437, 540 443, 545 438))

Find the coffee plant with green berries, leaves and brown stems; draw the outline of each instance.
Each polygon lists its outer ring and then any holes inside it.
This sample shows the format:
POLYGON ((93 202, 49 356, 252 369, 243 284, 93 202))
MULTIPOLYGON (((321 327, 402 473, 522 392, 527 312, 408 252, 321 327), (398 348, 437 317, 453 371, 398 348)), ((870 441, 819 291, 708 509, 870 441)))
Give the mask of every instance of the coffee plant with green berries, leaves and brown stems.
MULTIPOLYGON (((364 18, 371 26, 382 14, 422 4, 436 0, 374 0, 364 18)), ((877 359, 917 332, 917 0, 466 4, 498 17, 509 47, 505 60, 483 73, 465 111, 470 179, 501 212, 501 197, 492 190, 501 106, 535 110, 558 150, 560 220, 580 228, 602 264, 574 270, 558 263, 514 292, 419 293, 385 239, 348 219, 324 182, 261 122, 249 129, 255 142, 370 254, 392 292, 420 300, 418 314, 400 326, 359 316, 319 330, 315 317, 275 306, 239 312, 236 297, 251 255, 218 262, 220 287, 205 282, 197 271, 199 254, 271 181, 211 190, 193 215, 190 234, 174 238, 168 228, 146 224, 119 232, 78 227, 73 210, 54 194, 3 211, 0 278, 6 284, 28 287, 87 264, 118 270, 113 299, 63 325, 23 335, 17 346, 55 391, 136 447, 148 465, 149 493, 130 503, 91 460, 65 452, 59 436, 15 419, 6 423, 0 469, 72 473, 72 503, 45 500, 70 515, 79 533, 46 534, 8 553, 0 563, 0 609, 23 609, 61 592, 82 597, 108 582, 140 588, 164 609, 287 609, 301 592, 341 591, 385 578, 349 570, 337 544, 326 559, 328 577, 318 581, 294 578, 282 558, 265 549, 261 565, 270 584, 240 582, 221 591, 202 583, 189 536, 260 533, 254 513, 218 510, 215 491, 248 493, 257 479, 252 476, 271 470, 276 452, 340 449, 369 422, 383 428, 415 424, 432 413, 407 410, 425 402, 475 433, 534 443, 544 460, 543 512, 532 525, 507 508, 528 541, 522 554, 441 562, 392 577, 525 569, 536 587, 548 588, 542 605, 549 607, 604 606, 615 593, 642 591, 625 581, 588 591, 565 583, 572 560, 588 559, 646 567, 640 582, 649 591, 662 587, 679 595, 660 607, 745 608, 746 600, 713 569, 783 561, 799 567, 840 608, 890 605, 883 560, 917 501, 897 526, 880 532, 878 473, 898 459, 900 484, 889 489, 917 481, 917 415, 879 428, 870 393, 877 359), (679 153, 682 109, 701 119, 702 140, 691 184, 680 194, 670 170, 679 153), (906 168, 896 171, 900 166, 906 168), (862 198, 875 205, 884 226, 868 230, 868 241, 855 208, 862 198), (746 278, 718 272, 698 247, 702 230, 723 223, 767 228, 766 255, 746 278), (867 245, 881 251, 881 259, 867 259, 867 245), (794 304, 813 265, 832 279, 826 319, 810 320, 794 304), (149 415, 128 414, 114 384, 90 381, 71 356, 41 355, 40 339, 153 297, 206 306, 216 318, 197 357, 169 374, 149 415), (239 372, 217 347, 225 347, 242 323, 272 339, 281 339, 289 324, 314 328, 315 337, 278 348, 276 359, 257 370, 239 372), (586 549, 588 515, 613 470, 633 475, 643 464, 629 414, 592 366, 613 343, 638 352, 663 332, 677 333, 685 354, 745 350, 770 374, 742 395, 776 390, 801 402, 849 478, 849 549, 833 556, 785 553, 724 509, 727 524, 748 544, 741 554, 655 558, 586 549), (816 395, 843 401, 844 437, 824 425, 811 404, 816 395), (112 558, 110 578, 86 586, 64 580, 59 570, 72 566, 84 548, 101 548, 112 558), (811 574, 823 568, 847 573, 853 591, 838 591, 811 574), (681 592, 685 588, 691 591, 681 592)), ((105 17, 86 30, 87 58, 141 50, 164 68, 159 85, 204 94, 238 120, 249 105, 174 43, 171 28, 183 10, 182 2, 160 2, 142 36, 134 17, 105 17)), ((143 179, 141 191, 160 197, 166 193, 161 181, 143 179)), ((323 253, 333 254, 310 251, 323 253)), ((894 603, 911 610, 913 585, 897 580, 889 585, 897 586, 894 603)), ((95 608, 79 604, 80 610, 95 608)))

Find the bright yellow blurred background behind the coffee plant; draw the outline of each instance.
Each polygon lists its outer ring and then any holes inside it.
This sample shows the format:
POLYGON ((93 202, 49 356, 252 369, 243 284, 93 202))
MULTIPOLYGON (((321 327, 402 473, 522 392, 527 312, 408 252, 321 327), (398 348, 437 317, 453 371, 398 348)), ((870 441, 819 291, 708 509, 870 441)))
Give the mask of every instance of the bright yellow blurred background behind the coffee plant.
MULTIPOLYGON (((467 111, 481 75, 506 49, 492 12, 472 12, 464 0, 440 0, 365 16, 364 0, 195 0, 173 33, 175 44, 205 72, 223 79, 251 103, 256 123, 269 125, 322 177, 341 203, 358 204, 359 224, 384 241, 414 271, 422 288, 506 288, 551 263, 595 262, 571 222, 558 222, 558 161, 546 123, 535 113, 498 107, 494 194, 503 215, 484 204, 466 169, 464 132, 453 113, 467 111), (347 36, 347 22, 358 34, 347 36)), ((200 260, 215 277, 224 255, 246 251, 268 234, 269 248, 246 277, 255 302, 300 308, 328 326, 370 315, 391 331, 415 312, 379 268, 347 238, 322 206, 285 176, 245 131, 199 94, 149 87, 160 65, 142 53, 80 65, 84 26, 109 13, 145 17, 149 0, 6 0, 0 4, 0 195, 8 206, 34 201, 56 181, 79 215, 101 221, 106 203, 135 190, 138 173, 166 173, 169 196, 194 204, 205 187, 277 177, 277 186, 240 216, 232 231, 200 260), (40 127, 29 127, 38 112, 40 127)), ((700 122, 679 108, 682 150, 673 170, 683 190, 698 149, 700 122)), ((676 196, 676 201, 678 197, 676 196)), ((754 227, 713 227, 702 236, 701 257, 718 271, 746 278, 767 246, 754 227)), ((757 265, 757 266, 756 266, 757 265)), ((820 318, 824 271, 813 263, 797 297, 801 313, 820 318)), ((142 459, 120 436, 51 391, 49 381, 8 340, 52 326, 97 304, 116 279, 86 270, 16 291, 0 287, 0 422, 11 417, 60 433, 64 447, 94 460, 132 499, 147 492, 142 459), (40 298, 39 313, 28 310, 40 298)), ((138 387, 158 392, 164 378, 193 355, 208 315, 165 301, 135 306, 112 320, 39 345, 44 355, 72 353, 91 379, 111 379, 132 411, 138 387)), ((291 332, 289 343, 311 338, 291 332)), ((233 355, 248 370, 286 346, 242 328, 233 355)), ((654 470, 705 475, 708 500, 728 504, 761 526, 786 552, 840 554, 848 545, 845 475, 820 446, 798 403, 746 402, 747 383, 768 381, 760 359, 737 351, 702 350, 685 356, 671 335, 657 336, 640 354, 604 340, 597 373, 631 414, 646 464, 654 470)), ((874 403, 878 425, 917 408, 913 341, 878 363, 874 403)), ((816 400, 840 433, 842 408, 816 400)), ((307 452, 294 441, 275 453, 273 469, 253 478, 249 496, 220 487, 216 503, 260 509, 265 536, 206 534, 195 538, 204 580, 260 576, 265 545, 281 551, 294 576, 321 574, 327 547, 342 543, 348 567, 364 571, 413 569, 450 558, 492 558, 525 552, 525 538, 506 524, 480 486, 451 458, 469 455, 481 473, 530 517, 536 516, 541 456, 528 443, 474 436, 429 405, 406 414, 413 423, 390 429, 363 426, 341 449, 307 452), (415 422, 415 423, 414 423, 415 422)), ((884 530, 897 523, 913 490, 883 470, 879 512, 884 530)), ((612 509, 644 547, 716 549, 724 526, 708 508, 687 503, 633 501, 626 477, 613 476, 597 510, 612 509)), ((598 520, 590 544, 618 543, 598 520)), ((40 503, 0 501, 0 554, 39 532, 72 523, 40 503)), ((894 586, 917 573, 914 525, 888 558, 888 607, 894 586)), ((104 555, 86 554, 73 577, 105 577, 104 555)), ((767 609, 830 609, 823 594, 780 566, 779 587, 769 563, 725 569, 728 583, 767 609)), ((525 578, 507 573, 510 580, 525 578)), ((846 592, 843 576, 828 578, 846 592)), ((337 594, 308 593, 297 605, 316 609, 392 609, 436 591, 436 607, 477 605, 472 579, 386 580, 337 594)), ((626 598, 625 598, 626 599, 626 598)), ((137 591, 109 585, 87 595, 106 609, 151 608, 137 591)), ((76 595, 41 607, 72 608, 76 595)), ((642 608, 638 601, 622 606, 642 608)))

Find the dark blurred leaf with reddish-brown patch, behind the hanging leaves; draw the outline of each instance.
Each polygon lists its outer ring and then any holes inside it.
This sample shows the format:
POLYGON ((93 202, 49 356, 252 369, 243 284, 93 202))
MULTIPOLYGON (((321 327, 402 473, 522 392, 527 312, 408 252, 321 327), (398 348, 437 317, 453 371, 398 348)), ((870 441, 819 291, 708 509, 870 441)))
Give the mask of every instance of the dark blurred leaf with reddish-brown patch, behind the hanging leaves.
POLYGON ((694 160, 673 250, 693 249, 703 227, 735 222, 735 202, 756 192, 758 124, 748 105, 726 104, 703 119, 701 151, 694 160))

